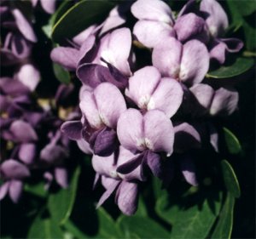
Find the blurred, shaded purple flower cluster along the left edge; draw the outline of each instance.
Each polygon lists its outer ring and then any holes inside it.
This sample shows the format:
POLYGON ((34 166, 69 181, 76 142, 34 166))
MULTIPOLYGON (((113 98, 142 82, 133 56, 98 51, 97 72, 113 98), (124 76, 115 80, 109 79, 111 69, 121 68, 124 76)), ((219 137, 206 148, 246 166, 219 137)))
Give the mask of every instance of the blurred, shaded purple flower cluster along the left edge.
MULTIPOLYGON (((53 179, 63 188, 68 185, 66 161, 70 141, 60 130, 63 122, 60 109, 73 86, 61 85, 55 100, 39 99, 35 89, 40 75, 32 60, 32 47, 37 37, 32 24, 10 1, 2 1, 0 11, 1 66, 3 74, 8 75, 0 78, 0 200, 9 195, 16 203, 24 179, 32 174, 42 174, 45 189, 53 179)), ((76 117, 75 114, 68 117, 76 117)))

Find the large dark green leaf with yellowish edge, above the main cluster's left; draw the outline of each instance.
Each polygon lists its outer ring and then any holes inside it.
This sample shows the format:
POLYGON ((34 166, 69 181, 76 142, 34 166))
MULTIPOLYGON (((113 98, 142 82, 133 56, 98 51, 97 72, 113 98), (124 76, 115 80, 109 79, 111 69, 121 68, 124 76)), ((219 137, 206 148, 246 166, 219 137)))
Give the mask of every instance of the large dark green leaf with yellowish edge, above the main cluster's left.
POLYGON ((81 1, 68 9, 57 21, 52 31, 52 39, 56 43, 74 37, 88 26, 104 20, 114 4, 107 0, 81 1))

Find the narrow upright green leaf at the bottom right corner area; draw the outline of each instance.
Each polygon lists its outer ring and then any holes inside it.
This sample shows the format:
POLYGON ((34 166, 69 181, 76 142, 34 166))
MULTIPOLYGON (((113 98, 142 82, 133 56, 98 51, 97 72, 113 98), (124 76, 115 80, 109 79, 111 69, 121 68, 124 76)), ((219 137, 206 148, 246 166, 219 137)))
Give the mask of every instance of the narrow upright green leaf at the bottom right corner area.
POLYGON ((228 193, 224 202, 224 207, 219 214, 218 224, 212 232, 211 238, 229 239, 233 227, 233 211, 235 206, 235 198, 228 193))

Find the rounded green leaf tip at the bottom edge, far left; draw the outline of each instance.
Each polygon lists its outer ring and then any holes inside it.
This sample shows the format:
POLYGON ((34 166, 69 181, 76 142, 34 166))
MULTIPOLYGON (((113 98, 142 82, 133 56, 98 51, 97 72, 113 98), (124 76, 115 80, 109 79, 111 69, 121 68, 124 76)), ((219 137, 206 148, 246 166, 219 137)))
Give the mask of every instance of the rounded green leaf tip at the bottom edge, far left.
POLYGON ((36 219, 34 219, 32 222, 27 238, 60 239, 63 238, 63 234, 60 226, 57 225, 53 219, 44 217, 41 213, 39 213, 38 217, 36 217, 36 219))

